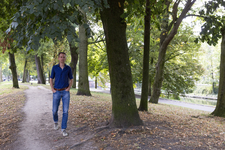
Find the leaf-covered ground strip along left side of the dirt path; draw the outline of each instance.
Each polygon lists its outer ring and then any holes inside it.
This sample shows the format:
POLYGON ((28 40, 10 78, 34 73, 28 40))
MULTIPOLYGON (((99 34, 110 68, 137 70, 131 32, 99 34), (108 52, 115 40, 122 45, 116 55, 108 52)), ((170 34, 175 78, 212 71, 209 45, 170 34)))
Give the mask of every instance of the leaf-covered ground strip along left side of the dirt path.
POLYGON ((21 108, 26 99, 23 90, 26 87, 15 89, 12 85, 0 85, 0 89, 0 149, 3 149, 15 140, 13 136, 19 131, 18 123, 23 116, 21 108))

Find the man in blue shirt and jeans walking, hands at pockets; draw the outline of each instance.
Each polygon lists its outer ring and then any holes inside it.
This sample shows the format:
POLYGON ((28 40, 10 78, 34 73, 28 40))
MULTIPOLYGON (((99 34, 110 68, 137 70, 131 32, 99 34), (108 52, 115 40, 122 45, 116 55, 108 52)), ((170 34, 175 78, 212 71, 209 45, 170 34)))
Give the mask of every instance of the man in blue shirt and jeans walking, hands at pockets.
POLYGON ((70 88, 73 83, 73 74, 70 66, 65 64, 66 54, 60 52, 58 54, 59 64, 52 67, 52 73, 50 76, 50 86, 53 92, 53 105, 52 113, 54 120, 54 129, 57 130, 58 126, 58 108, 60 100, 62 98, 63 103, 63 116, 61 129, 63 136, 67 136, 67 120, 68 120, 68 110, 70 103, 70 88), (53 79, 55 78, 55 85, 53 86, 53 79))

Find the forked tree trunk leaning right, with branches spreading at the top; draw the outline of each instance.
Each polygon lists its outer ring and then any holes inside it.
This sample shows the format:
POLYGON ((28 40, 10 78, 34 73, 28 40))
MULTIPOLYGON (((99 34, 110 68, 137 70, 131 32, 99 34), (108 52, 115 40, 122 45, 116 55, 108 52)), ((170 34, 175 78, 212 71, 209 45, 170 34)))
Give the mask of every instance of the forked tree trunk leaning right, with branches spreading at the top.
MULTIPOLYGON (((169 45, 169 43, 171 42, 171 40, 174 38, 174 36, 177 33, 177 30, 182 22, 182 20, 185 18, 187 12, 191 9, 191 7, 193 6, 193 4, 195 3, 196 0, 187 0, 185 8, 183 9, 183 11, 181 12, 179 18, 176 19, 176 15, 177 15, 177 8, 179 5, 178 3, 174 3, 173 6, 173 21, 172 24, 168 24, 169 20, 169 16, 168 13, 165 15, 165 19, 162 22, 162 29, 163 31, 161 32, 160 35, 160 49, 159 49, 159 56, 158 56, 158 61, 156 64, 156 76, 154 79, 154 84, 153 84, 153 94, 150 98, 151 103, 158 103, 159 100, 159 96, 161 94, 161 87, 162 87, 162 82, 163 82, 163 71, 164 71, 164 64, 165 64, 165 57, 166 57, 166 50, 167 47, 169 45), (173 25, 172 30, 170 31, 171 27, 173 25), (170 33, 168 34, 168 32, 170 31, 170 33)), ((166 1, 166 3, 170 3, 170 1, 166 1)), ((169 4, 167 4, 167 10, 169 10, 169 4)))

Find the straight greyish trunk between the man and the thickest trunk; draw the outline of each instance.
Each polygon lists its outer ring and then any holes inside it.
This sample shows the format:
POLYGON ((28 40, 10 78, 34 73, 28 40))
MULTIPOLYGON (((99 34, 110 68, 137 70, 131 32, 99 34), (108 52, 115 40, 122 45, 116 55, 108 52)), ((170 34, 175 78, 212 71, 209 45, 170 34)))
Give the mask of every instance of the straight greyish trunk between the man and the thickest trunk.
POLYGON ((79 82, 77 95, 91 96, 88 81, 87 47, 88 38, 84 24, 79 26, 79 82))

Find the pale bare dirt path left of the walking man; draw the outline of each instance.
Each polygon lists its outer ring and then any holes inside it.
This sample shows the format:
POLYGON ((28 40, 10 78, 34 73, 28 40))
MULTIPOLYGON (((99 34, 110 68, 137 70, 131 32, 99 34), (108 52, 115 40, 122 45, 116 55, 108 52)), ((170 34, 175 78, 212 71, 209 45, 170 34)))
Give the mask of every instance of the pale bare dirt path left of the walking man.
POLYGON ((44 140, 46 134, 41 132, 44 128, 52 127, 50 90, 42 86, 29 86, 25 91, 27 102, 23 111, 24 121, 20 124, 17 141, 13 143, 15 150, 47 150, 49 143, 44 140))

